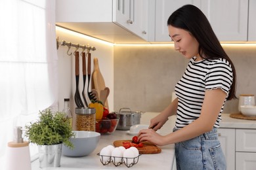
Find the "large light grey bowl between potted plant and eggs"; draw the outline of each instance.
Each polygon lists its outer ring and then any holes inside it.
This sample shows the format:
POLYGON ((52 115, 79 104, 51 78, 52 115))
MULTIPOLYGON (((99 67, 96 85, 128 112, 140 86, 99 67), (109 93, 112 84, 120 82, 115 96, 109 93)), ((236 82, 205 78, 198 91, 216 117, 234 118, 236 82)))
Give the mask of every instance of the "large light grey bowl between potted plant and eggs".
POLYGON ((74 149, 62 145, 62 154, 64 156, 87 156, 95 150, 100 141, 100 133, 95 131, 74 131, 75 137, 70 139, 74 144, 74 149))

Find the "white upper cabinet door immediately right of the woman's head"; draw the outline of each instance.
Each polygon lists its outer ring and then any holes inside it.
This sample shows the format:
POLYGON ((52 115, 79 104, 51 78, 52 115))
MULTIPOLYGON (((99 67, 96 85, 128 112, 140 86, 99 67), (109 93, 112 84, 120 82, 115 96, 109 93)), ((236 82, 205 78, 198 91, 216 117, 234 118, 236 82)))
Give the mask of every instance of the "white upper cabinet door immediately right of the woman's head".
POLYGON ((201 9, 219 41, 247 41, 248 0, 203 0, 201 9))

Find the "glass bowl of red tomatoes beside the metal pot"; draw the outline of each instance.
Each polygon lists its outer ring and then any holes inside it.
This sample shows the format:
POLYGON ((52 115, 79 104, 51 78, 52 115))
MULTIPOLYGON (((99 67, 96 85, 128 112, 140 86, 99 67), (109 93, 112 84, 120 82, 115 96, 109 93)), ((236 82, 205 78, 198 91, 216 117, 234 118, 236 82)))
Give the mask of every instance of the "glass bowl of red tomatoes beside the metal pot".
POLYGON ((101 135, 110 135, 116 131, 117 124, 119 122, 119 118, 111 113, 108 116, 96 120, 95 122, 95 131, 100 133, 101 135))

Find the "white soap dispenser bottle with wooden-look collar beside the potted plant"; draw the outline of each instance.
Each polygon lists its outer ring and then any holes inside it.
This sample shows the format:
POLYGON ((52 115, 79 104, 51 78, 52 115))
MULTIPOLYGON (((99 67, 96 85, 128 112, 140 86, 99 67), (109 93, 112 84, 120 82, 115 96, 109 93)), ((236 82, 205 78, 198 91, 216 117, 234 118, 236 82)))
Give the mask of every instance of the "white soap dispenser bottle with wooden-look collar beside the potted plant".
POLYGON ((14 127, 14 138, 8 143, 7 161, 5 169, 7 170, 31 170, 30 148, 28 141, 22 139, 22 127, 14 127))

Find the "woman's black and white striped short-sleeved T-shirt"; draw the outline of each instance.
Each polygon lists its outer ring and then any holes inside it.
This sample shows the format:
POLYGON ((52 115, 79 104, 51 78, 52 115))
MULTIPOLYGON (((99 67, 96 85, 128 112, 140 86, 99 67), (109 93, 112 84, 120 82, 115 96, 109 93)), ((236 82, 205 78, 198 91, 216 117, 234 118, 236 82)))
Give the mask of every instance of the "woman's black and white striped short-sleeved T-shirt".
MULTIPOLYGON (((221 88, 228 97, 233 80, 232 68, 226 59, 195 59, 196 57, 190 59, 184 75, 175 86, 175 94, 179 101, 176 120, 178 129, 199 118, 206 90, 221 88)), ((223 107, 219 111, 214 127, 219 127, 223 107)))

